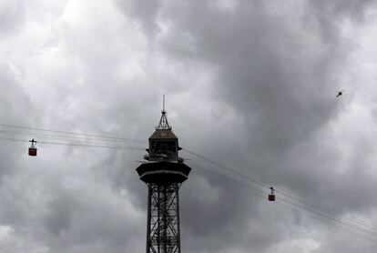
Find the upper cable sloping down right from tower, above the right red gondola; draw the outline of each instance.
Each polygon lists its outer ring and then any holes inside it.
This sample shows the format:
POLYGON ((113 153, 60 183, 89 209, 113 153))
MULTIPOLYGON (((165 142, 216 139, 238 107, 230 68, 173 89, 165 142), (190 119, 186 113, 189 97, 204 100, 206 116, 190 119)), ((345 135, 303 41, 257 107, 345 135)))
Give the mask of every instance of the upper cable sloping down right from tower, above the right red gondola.
MULTIPOLYGON (((199 158, 201 158, 201 159, 203 159, 203 160, 209 162, 209 163, 212 164, 212 165, 215 165, 215 166, 217 166, 217 167, 221 167, 221 168, 223 168, 223 169, 229 171, 230 173, 232 173, 232 174, 234 174, 234 175, 237 175, 238 177, 241 177, 241 178, 247 179, 247 180, 249 180, 249 181, 251 181, 251 182, 253 182, 253 183, 257 183, 257 184, 259 184, 259 185, 262 186, 262 187, 268 187, 268 188, 270 187, 268 184, 263 183, 263 182, 261 182, 261 181, 258 180, 258 179, 255 179, 255 177, 248 177, 248 176, 242 175, 242 174, 240 174, 239 172, 230 169, 229 167, 222 166, 222 165, 220 165, 219 163, 217 163, 217 162, 215 162, 215 161, 212 161, 211 159, 209 159, 209 158, 207 158, 207 157, 200 156, 199 154, 197 154, 197 153, 195 153, 195 152, 193 152, 193 151, 189 151, 189 150, 186 149, 186 148, 183 148, 183 150, 187 151, 187 152, 188 152, 189 154, 191 154, 191 155, 194 155, 194 156, 196 156, 196 157, 199 157, 199 158)), ((335 216, 335 217, 337 217, 337 218, 344 218, 344 219, 347 219, 347 220, 349 220, 349 221, 351 221, 351 222, 357 223, 357 224, 359 224, 360 226, 363 226, 363 227, 367 227, 367 228, 369 228, 369 229, 372 229, 372 230, 374 230, 373 233, 375 233, 375 231, 377 231, 377 228, 375 228, 375 227, 373 227, 373 226, 371 226, 371 225, 369 225, 369 224, 366 224, 365 222, 363 222, 363 221, 361 221, 361 220, 359 220, 359 219, 346 217, 346 216, 342 215, 341 212, 337 212, 336 210, 331 209, 331 208, 329 208, 329 207, 325 207, 325 206, 323 206, 323 205, 321 205, 321 204, 318 204, 318 203, 314 203, 314 202, 308 201, 308 200, 306 200, 306 199, 303 199, 302 197, 297 197, 297 196, 290 195, 289 193, 286 193, 286 192, 281 191, 281 190, 279 190, 279 189, 275 189, 275 192, 276 192, 276 193, 280 193, 280 195, 283 195, 283 196, 285 196, 285 197, 294 198, 294 199, 296 199, 296 200, 299 201, 299 202, 303 202, 304 205, 311 205, 311 207, 315 207, 315 208, 321 209, 321 211, 326 212, 328 215, 335 216)), ((301 203, 301 204, 302 204, 302 203, 301 203)))

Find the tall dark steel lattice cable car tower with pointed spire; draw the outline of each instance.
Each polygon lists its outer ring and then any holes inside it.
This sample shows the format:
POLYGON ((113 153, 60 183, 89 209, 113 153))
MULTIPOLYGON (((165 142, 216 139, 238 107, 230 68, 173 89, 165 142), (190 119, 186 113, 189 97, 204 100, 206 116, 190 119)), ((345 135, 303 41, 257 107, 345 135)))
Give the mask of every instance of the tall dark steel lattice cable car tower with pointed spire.
POLYGON ((178 137, 168 125, 164 97, 156 131, 149 137, 148 162, 137 168, 148 186, 147 253, 180 253, 180 185, 189 177, 190 167, 178 157, 178 137))

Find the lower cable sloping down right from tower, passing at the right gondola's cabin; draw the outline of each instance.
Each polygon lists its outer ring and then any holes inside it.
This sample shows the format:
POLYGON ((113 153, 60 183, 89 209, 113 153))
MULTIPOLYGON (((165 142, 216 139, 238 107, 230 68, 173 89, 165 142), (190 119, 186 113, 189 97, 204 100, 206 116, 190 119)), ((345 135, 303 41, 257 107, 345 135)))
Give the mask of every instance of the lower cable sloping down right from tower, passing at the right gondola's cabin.
MULTIPOLYGON (((208 168, 200 167, 200 166, 195 165, 193 163, 190 163, 190 164, 191 164, 192 167, 197 167, 197 168, 201 169, 201 171, 203 171, 203 172, 206 172, 206 173, 208 173, 210 175, 215 175, 216 177, 218 177, 218 179, 220 181, 225 182, 225 183, 229 183, 233 187, 238 187, 239 189, 242 189, 242 190, 244 190, 244 191, 246 191, 248 193, 253 193, 254 195, 258 195, 260 197, 268 199, 268 197, 266 197, 265 195, 262 195, 262 194, 265 194, 265 192, 263 192, 263 191, 261 191, 259 189, 256 189, 254 187, 250 187, 249 185, 240 183, 239 181, 234 180, 232 178, 225 177, 223 175, 219 175, 218 173, 215 173, 215 172, 211 171, 208 168)), ((297 205, 296 203, 291 202, 291 201, 289 201, 287 199, 284 199, 284 198, 281 198, 281 197, 279 199, 277 199, 276 202, 279 203, 280 205, 282 205, 284 207, 288 207, 290 209, 294 209, 294 210, 297 210, 297 211, 304 210, 304 211, 306 211, 311 216, 311 218, 315 218, 317 220, 320 220, 323 223, 326 223, 329 226, 333 226, 335 228, 340 228, 341 230, 347 231, 347 232, 352 233, 352 234, 354 234, 356 236, 359 236, 361 238, 365 238, 365 239, 368 239, 368 240, 370 240, 370 241, 372 241, 374 243, 377 243, 376 238, 374 238, 374 237, 376 237, 375 234, 372 234, 372 233, 370 233, 370 231, 366 231, 366 230, 364 230, 362 228, 353 226, 352 224, 346 223, 346 222, 342 221, 339 218, 333 218, 333 217, 330 217, 330 216, 327 216, 327 215, 323 215, 321 212, 313 211, 309 207, 302 207, 301 205, 297 205), (324 220, 323 218, 325 218, 327 221, 324 220), (349 228, 356 229, 356 230, 362 232, 363 234, 357 233, 357 232, 355 232, 353 230, 350 230, 350 229, 347 229, 347 228, 343 228, 343 227, 338 226, 338 225, 333 224, 333 223, 329 223, 329 221, 341 224, 343 226, 347 226, 349 228), (368 236, 370 236, 370 237, 372 237, 372 238, 366 236, 365 234, 368 235, 368 236)))

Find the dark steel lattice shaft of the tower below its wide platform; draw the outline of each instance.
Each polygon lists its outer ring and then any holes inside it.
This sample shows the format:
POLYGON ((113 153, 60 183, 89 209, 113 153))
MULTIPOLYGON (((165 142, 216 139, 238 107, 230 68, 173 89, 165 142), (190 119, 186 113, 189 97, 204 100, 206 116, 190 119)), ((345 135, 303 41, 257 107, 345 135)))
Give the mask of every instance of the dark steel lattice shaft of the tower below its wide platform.
POLYGON ((148 183, 147 253, 180 253, 179 187, 148 183))

